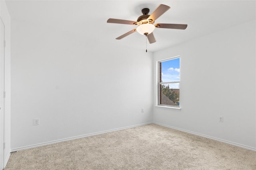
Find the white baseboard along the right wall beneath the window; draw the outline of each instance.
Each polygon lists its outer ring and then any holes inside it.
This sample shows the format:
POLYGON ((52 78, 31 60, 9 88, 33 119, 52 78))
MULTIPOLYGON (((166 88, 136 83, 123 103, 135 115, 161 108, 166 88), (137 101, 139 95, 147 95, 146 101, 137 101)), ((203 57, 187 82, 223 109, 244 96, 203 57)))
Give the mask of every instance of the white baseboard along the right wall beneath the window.
POLYGON ((218 139, 218 138, 215 138, 215 137, 210 137, 210 136, 203 135, 203 134, 200 134, 200 133, 195 133, 195 132, 187 131, 187 130, 180 129, 180 128, 177 128, 177 127, 172 127, 172 126, 164 125, 164 124, 161 124, 161 123, 156 123, 156 122, 153 122, 153 123, 156 124, 156 125, 161 125, 161 126, 164 126, 164 127, 169 127, 169 128, 172 128, 172 129, 176 129, 178 131, 183 131, 183 132, 186 132, 186 133, 191 133, 193 135, 198 135, 198 136, 201 136, 201 137, 206 137, 208 139, 213 139, 213 140, 220 141, 220 142, 223 142, 223 143, 227 143, 227 144, 230 144, 230 145, 234 145, 234 146, 237 146, 237 147, 242 147, 242 148, 245 148, 245 149, 256 151, 256 148, 253 148, 253 147, 248 147, 248 146, 241 145, 241 144, 238 144, 238 143, 226 141, 226 140, 223 140, 223 139, 218 139))

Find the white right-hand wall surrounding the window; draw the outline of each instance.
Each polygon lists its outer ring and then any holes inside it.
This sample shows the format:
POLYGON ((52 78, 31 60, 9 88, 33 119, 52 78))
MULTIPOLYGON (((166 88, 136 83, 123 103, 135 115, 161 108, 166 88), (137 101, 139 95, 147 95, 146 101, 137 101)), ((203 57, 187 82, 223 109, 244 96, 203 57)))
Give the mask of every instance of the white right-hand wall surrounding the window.
POLYGON ((153 121, 256 149, 255 30, 250 21, 155 52, 154 75, 156 61, 180 55, 182 109, 154 107, 153 121))

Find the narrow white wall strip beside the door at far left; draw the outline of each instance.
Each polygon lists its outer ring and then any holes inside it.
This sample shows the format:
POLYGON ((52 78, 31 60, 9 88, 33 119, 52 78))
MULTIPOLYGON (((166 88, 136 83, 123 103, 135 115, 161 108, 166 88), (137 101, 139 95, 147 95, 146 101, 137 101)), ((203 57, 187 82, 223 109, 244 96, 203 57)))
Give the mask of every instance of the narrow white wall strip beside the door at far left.
MULTIPOLYGON (((5 40, 6 40, 6 48, 5 48, 5 91, 6 91, 6 98, 5 98, 5 105, 4 105, 4 121, 5 121, 5 150, 4 150, 4 163, 6 165, 11 151, 11 57, 10 57, 10 16, 8 13, 8 9, 4 0, 0 1, 0 15, 5 25, 5 40)), ((2 37, 1 37, 2 38, 2 37)), ((4 165, 4 166, 5 166, 4 165)))

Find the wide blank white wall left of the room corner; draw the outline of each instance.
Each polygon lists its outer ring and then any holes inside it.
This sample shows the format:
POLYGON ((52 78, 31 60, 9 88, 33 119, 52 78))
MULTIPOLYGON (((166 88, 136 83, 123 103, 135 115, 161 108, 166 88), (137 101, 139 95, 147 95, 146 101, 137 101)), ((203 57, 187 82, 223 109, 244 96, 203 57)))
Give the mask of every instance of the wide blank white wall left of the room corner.
POLYGON ((152 122, 152 53, 15 20, 11 31, 13 150, 152 122))

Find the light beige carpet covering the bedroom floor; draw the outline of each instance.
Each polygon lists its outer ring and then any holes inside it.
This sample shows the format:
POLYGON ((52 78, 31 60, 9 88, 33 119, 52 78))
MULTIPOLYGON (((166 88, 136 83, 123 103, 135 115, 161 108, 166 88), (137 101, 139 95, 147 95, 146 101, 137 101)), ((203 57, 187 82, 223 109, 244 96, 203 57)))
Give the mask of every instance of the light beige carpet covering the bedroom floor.
POLYGON ((256 170, 256 152, 150 124, 21 150, 5 170, 256 170))

